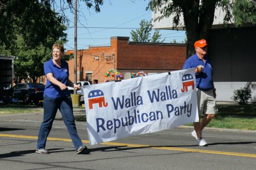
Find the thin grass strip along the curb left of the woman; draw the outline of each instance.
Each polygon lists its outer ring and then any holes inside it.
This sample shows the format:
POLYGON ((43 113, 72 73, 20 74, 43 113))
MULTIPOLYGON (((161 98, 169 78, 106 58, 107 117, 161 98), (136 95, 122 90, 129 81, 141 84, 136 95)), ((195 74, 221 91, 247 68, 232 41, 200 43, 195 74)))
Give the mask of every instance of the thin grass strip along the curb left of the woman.
POLYGON ((38 113, 41 108, 35 105, 0 105, 0 114, 38 113))

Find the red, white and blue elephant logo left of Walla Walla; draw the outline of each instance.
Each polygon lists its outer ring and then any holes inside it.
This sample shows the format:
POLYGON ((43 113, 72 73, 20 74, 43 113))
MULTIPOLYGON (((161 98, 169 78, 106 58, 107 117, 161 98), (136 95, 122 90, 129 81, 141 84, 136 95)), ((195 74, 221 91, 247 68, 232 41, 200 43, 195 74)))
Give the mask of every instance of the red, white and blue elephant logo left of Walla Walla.
POLYGON ((98 104, 99 107, 108 106, 108 103, 105 103, 105 97, 101 90, 92 90, 88 94, 88 101, 89 101, 89 109, 93 109, 93 104, 98 104))

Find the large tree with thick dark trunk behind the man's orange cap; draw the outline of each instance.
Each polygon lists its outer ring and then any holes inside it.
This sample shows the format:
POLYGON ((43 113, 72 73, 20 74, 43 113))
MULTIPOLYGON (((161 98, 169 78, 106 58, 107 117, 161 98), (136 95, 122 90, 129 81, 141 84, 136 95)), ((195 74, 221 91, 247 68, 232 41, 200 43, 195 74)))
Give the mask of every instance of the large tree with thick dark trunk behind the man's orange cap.
POLYGON ((161 16, 174 15, 172 20, 174 29, 180 24, 180 16, 184 19, 184 28, 188 38, 187 54, 195 53, 193 43, 198 39, 207 39, 211 33, 211 27, 216 8, 222 8, 225 12, 224 24, 227 25, 232 17, 234 24, 241 26, 245 23, 256 24, 256 7, 251 0, 151 0, 149 6, 152 11, 160 11, 161 16))

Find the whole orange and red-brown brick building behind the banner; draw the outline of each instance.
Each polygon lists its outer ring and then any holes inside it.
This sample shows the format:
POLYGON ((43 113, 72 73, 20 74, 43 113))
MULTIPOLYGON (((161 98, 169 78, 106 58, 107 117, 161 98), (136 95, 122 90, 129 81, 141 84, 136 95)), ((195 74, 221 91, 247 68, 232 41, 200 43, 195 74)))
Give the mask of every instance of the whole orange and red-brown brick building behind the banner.
MULTIPOLYGON (((67 54, 73 54, 68 50, 67 54)), ((186 45, 177 43, 129 42, 129 37, 112 37, 110 46, 89 47, 77 52, 77 80, 102 83, 109 69, 117 69, 122 78, 131 72, 147 75, 182 69, 186 60, 186 45)), ((70 79, 74 76, 74 60, 68 61, 70 79)))

